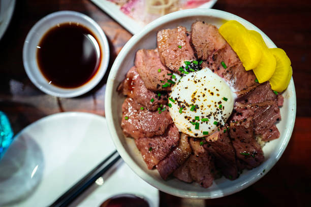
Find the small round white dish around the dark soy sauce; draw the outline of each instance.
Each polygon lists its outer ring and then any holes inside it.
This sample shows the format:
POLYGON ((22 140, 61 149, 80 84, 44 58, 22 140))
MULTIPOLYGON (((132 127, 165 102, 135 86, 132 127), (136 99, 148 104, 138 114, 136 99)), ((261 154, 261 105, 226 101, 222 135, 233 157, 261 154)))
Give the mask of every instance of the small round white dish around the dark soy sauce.
POLYGON ((109 63, 109 44, 102 28, 90 17, 73 11, 60 11, 49 14, 38 21, 27 34, 23 47, 23 63, 29 79, 43 92, 58 97, 75 97, 94 88, 104 77, 109 63), (90 29, 101 46, 102 59, 96 75, 77 88, 60 88, 49 82, 42 75, 37 62, 37 46, 44 34, 58 23, 78 22, 90 29))

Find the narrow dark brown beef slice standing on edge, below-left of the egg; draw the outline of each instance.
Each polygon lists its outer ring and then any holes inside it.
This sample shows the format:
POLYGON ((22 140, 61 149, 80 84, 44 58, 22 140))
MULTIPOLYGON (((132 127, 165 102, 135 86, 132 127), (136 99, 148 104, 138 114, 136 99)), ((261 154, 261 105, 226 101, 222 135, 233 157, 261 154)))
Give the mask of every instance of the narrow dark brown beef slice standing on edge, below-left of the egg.
POLYGON ((165 159, 157 165, 161 177, 166 180, 185 160, 190 156, 192 150, 189 144, 188 136, 184 133, 180 135, 180 142, 165 159))

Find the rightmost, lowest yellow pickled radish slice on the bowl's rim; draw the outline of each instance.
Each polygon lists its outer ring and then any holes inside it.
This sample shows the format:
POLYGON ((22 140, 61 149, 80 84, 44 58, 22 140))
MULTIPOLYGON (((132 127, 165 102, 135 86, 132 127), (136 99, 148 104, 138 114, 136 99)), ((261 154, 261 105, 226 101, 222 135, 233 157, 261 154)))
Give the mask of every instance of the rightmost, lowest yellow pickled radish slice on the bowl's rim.
POLYGON ((271 48, 269 50, 276 60, 275 72, 269 82, 272 90, 282 92, 287 88, 293 74, 291 60, 281 48, 271 48))

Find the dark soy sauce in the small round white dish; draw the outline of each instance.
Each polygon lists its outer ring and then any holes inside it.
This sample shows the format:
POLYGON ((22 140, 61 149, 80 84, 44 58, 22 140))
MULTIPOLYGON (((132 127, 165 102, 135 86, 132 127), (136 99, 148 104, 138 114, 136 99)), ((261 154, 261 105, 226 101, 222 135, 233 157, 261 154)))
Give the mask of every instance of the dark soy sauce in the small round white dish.
POLYGON ((57 24, 44 34, 37 48, 42 74, 58 87, 82 86, 96 75, 100 66, 99 42, 79 23, 57 24))

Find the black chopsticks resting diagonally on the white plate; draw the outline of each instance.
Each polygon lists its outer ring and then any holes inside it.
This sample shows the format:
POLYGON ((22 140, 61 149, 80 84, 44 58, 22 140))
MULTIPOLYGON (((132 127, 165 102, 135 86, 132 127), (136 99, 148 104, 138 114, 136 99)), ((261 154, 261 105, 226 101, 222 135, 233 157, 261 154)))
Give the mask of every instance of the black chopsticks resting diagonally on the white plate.
POLYGON ((69 205, 75 198, 77 198, 84 190, 92 185, 99 177, 101 177, 113 164, 119 159, 120 155, 115 150, 104 161, 92 169, 86 176, 78 181, 73 187, 61 195, 50 206, 60 207, 69 205))

